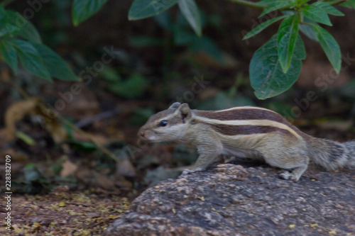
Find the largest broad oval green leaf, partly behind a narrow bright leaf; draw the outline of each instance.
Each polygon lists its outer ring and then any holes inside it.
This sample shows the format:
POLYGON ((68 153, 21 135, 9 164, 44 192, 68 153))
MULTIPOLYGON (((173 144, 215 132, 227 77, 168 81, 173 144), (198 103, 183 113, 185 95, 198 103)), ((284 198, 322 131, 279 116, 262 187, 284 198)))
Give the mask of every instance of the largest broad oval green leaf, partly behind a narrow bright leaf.
POLYGON ((278 60, 278 37, 273 35, 254 53, 249 66, 251 86, 258 99, 268 99, 284 91, 297 81, 305 59, 305 45, 297 37, 293 60, 287 73, 283 73, 278 60))

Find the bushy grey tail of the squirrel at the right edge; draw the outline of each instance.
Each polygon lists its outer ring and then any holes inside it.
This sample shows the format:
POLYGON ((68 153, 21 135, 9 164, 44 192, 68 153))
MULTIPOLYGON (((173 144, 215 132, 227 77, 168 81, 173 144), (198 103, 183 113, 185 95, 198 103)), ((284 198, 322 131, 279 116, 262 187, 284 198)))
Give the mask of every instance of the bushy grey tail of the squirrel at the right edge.
POLYGON ((313 137, 309 150, 310 159, 327 170, 355 167, 355 141, 341 143, 313 137))

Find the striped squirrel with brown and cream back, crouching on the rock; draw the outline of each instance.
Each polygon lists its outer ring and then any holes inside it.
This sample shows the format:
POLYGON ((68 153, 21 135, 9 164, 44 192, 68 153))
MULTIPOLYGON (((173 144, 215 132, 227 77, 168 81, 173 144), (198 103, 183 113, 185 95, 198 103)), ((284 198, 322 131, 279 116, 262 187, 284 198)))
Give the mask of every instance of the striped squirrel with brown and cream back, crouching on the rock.
POLYGON ((266 108, 239 106, 217 111, 191 110, 173 103, 151 116, 138 131, 150 142, 176 141, 197 147, 194 169, 220 162, 223 155, 264 159, 273 167, 293 170, 280 177, 298 181, 310 159, 327 170, 355 167, 355 141, 335 142, 302 133, 283 116, 266 108))

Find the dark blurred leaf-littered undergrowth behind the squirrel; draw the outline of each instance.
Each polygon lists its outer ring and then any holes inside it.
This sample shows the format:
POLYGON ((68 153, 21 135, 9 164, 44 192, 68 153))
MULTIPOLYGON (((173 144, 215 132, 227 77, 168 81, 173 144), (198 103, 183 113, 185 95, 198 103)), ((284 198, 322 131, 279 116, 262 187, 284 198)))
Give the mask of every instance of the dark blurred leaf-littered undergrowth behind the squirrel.
MULTIPOLYGON (((19 137, 0 143, 1 153, 11 153, 13 159, 17 159, 13 178, 18 183, 29 185, 27 192, 40 192, 46 186, 41 179, 36 180, 37 185, 26 179, 23 175, 26 168, 30 169, 28 172, 41 172, 48 186, 63 183, 84 189, 94 186, 127 194, 132 189, 141 191, 154 182, 149 173, 160 176, 158 179, 165 178, 166 173, 158 169, 160 166, 173 168, 193 163, 195 152, 180 145, 161 144, 143 148, 136 142, 136 132, 146 119, 168 108, 170 103, 179 100, 177 98, 190 103, 192 108, 201 109, 263 106, 290 118, 310 135, 341 141, 355 137, 353 10, 339 7, 346 16, 331 16, 333 27, 325 27, 336 38, 344 57, 348 58, 342 62, 344 69, 339 75, 332 77, 332 66, 320 45, 302 35, 307 59, 303 62, 300 78, 285 93, 261 101, 253 95, 250 86, 249 62, 258 47, 277 32, 278 24, 254 38, 241 40, 246 32, 261 22, 258 19, 260 10, 229 1, 197 1, 205 22, 203 35, 212 40, 224 57, 224 62, 219 62, 203 50, 208 51, 207 47, 192 50, 176 42, 174 33, 161 27, 155 18, 128 21, 131 2, 109 1, 99 13, 77 27, 72 26, 72 1, 69 0, 43 4, 31 19, 43 43, 58 52, 76 74, 88 76, 88 68, 102 60, 105 47, 119 52, 112 62, 94 72, 95 76, 89 76, 89 83, 85 84, 87 80, 83 77, 80 93, 72 96, 70 102, 65 103, 65 108, 60 108, 60 114, 92 135, 121 162, 114 162, 85 135, 68 128, 62 121, 58 124, 67 132, 71 130, 71 135, 65 133, 56 140, 55 132, 43 129, 29 113, 16 120, 16 129, 28 135, 34 144, 28 145, 19 137), (208 84, 200 89, 195 84, 196 78, 201 80, 202 77, 208 84), (329 77, 331 79, 327 81, 329 77), (319 78, 322 84, 316 86, 319 78), (194 92, 192 87, 199 89, 198 92, 194 92), (185 160, 182 158, 184 155, 192 158, 185 160), (65 176, 62 170, 67 167, 63 163, 69 162, 77 170, 65 176), (33 166, 35 169, 31 170, 33 166), (114 185, 103 186, 98 178, 92 180, 85 176, 85 171, 104 176, 114 185)), ((8 9, 21 13, 28 7, 26 1, 14 1, 8 9)), ((173 22, 180 21, 178 6, 167 14, 173 22)), ((184 27, 192 32, 189 26, 184 27)), ((1 77, 11 79, 27 94, 54 108, 63 100, 60 94, 66 94, 75 84, 58 79, 50 83, 32 77, 24 69, 14 77, 4 62, 0 62, 0 68, 1 77)), ((3 133, 6 130, 6 111, 16 101, 23 100, 26 99, 18 89, 1 82, 0 128, 3 133)))

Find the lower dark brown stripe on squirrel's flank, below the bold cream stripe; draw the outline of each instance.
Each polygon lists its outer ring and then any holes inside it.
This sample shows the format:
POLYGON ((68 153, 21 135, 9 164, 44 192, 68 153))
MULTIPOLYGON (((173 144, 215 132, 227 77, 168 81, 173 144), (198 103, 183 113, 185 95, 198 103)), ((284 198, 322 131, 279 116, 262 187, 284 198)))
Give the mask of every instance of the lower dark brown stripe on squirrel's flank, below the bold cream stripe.
POLYGON ((223 135, 255 135, 258 133, 280 132, 286 135, 292 135, 288 130, 276 128, 273 126, 262 125, 212 125, 212 128, 223 135))

